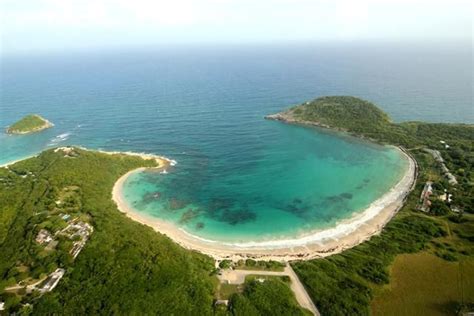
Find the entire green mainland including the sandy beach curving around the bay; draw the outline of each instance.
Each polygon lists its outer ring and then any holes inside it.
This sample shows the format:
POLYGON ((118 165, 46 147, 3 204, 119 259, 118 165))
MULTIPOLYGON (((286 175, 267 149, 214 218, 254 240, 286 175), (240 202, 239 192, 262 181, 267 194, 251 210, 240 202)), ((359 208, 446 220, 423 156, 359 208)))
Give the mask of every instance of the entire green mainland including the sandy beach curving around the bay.
POLYGON ((76 146, 45 150, 0 167, 2 307, 36 314, 367 315, 474 306, 474 126, 393 123, 354 97, 323 97, 267 118, 397 146, 409 167, 368 210, 340 223, 352 227, 347 236, 330 231, 293 249, 242 249, 196 241, 124 201, 127 177, 159 174, 174 161, 76 146), (250 279, 218 281, 229 267, 250 279), (267 279, 249 275, 259 271, 267 279), (293 296, 288 276, 307 297, 298 290, 293 296), (413 291, 416 301, 400 304, 413 291))

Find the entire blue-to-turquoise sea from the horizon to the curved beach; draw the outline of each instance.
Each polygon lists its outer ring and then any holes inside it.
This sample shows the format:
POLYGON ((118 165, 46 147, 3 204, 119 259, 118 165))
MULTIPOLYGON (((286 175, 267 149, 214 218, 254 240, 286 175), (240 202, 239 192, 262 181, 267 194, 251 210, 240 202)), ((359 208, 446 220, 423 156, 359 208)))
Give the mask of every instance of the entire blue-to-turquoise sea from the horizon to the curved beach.
POLYGON ((363 209, 404 162, 389 148, 263 116, 355 95, 397 121, 474 122, 471 51, 341 44, 3 58, 0 126, 39 113, 55 127, 0 133, 0 164, 62 145, 160 154, 178 165, 134 175, 126 191, 139 211, 214 239, 295 235, 363 209))

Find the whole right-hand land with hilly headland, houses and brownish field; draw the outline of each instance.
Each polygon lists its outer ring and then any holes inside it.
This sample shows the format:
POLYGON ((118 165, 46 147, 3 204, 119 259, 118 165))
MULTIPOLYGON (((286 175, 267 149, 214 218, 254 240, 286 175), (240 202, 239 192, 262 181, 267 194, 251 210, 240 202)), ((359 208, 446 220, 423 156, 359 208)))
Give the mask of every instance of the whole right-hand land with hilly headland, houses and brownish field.
POLYGON ((338 255, 292 263, 321 314, 474 310, 474 125, 395 123, 374 104, 348 96, 266 118, 400 146, 418 164, 415 189, 380 235, 338 255))

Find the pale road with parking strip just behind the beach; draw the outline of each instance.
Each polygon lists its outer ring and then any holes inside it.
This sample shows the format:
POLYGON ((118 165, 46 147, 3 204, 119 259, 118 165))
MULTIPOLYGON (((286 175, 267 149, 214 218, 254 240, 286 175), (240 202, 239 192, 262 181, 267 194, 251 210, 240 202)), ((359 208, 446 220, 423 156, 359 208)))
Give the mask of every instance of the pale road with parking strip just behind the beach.
POLYGON ((228 282, 230 284, 242 284, 245 282, 245 277, 247 275, 289 276, 291 280, 291 290, 295 293, 298 304, 311 311, 314 315, 320 315, 318 309, 309 297, 308 292, 306 292, 306 289, 290 265, 287 265, 281 272, 260 270, 223 270, 219 279, 221 282, 228 282))

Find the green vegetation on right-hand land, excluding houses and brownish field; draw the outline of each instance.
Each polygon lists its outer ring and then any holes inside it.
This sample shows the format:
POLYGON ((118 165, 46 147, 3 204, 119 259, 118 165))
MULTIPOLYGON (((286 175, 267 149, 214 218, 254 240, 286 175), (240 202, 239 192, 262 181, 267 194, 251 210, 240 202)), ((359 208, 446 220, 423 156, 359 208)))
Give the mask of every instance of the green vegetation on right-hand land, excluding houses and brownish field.
MULTIPOLYGON (((319 98, 282 115, 289 121, 323 125, 379 143, 404 146, 419 165, 415 190, 381 235, 339 255, 293 263, 323 315, 369 314, 370 302, 374 296, 376 302, 379 301, 380 289, 390 282, 389 267, 401 254, 423 251, 444 259, 445 265, 471 264, 474 260, 474 216, 471 215, 474 213, 473 125, 393 123, 373 104, 353 97, 319 98), (441 165, 424 151, 425 148, 441 153, 458 185, 448 182, 441 165), (417 211, 417 205, 426 181, 434 183, 430 212, 425 214, 417 211), (439 196, 445 190, 452 194, 452 201, 440 200, 439 196), (456 263, 450 263, 453 261, 456 263)), ((465 274, 465 278, 474 279, 472 269, 466 270, 465 274)), ((417 286, 410 274, 398 276, 397 282, 417 286)), ((436 278, 427 278, 423 286, 440 285, 436 278)), ((465 291, 473 292, 472 282, 465 286, 465 291)), ((425 307, 432 304, 428 294, 424 297, 416 304, 425 307)), ((474 303, 474 296, 456 296, 454 300, 457 301, 449 305, 451 312, 474 303)), ((405 304, 410 302, 414 301, 405 304)), ((440 304, 433 308, 444 311, 447 307, 440 304)))

